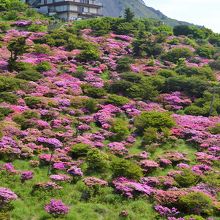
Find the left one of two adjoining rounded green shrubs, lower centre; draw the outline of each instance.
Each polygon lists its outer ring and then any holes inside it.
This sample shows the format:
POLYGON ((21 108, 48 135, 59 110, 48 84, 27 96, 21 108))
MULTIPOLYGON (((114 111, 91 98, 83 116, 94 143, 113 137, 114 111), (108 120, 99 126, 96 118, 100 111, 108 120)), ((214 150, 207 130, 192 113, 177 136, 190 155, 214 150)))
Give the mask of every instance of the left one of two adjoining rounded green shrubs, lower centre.
POLYGON ((89 170, 103 172, 109 167, 109 158, 107 154, 94 148, 88 151, 86 163, 88 164, 89 170))

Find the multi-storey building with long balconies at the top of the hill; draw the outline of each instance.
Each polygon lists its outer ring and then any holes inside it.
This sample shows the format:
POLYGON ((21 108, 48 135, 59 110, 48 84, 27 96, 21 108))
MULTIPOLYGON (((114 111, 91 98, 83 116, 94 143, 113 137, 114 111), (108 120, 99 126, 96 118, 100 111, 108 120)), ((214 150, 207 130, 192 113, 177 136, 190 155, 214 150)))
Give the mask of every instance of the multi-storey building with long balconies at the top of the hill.
POLYGON ((102 16, 98 0, 24 0, 40 13, 57 16, 65 21, 102 16))

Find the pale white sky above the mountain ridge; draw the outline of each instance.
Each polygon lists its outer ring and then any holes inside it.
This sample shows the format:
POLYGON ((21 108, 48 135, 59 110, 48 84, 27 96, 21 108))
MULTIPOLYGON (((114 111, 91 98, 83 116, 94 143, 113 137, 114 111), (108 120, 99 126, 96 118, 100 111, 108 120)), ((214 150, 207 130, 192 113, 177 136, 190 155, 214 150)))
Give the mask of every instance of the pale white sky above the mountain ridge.
POLYGON ((144 0, 147 6, 177 20, 203 25, 220 33, 220 0, 144 0))

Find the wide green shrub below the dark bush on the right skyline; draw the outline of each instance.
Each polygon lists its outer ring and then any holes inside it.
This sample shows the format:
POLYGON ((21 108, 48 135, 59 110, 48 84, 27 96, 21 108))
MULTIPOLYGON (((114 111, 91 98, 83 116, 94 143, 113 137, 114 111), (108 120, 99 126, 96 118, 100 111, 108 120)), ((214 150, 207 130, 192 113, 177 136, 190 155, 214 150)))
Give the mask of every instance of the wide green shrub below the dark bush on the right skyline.
POLYGON ((174 48, 162 56, 163 59, 177 63, 180 58, 190 58, 193 52, 188 48, 174 48))

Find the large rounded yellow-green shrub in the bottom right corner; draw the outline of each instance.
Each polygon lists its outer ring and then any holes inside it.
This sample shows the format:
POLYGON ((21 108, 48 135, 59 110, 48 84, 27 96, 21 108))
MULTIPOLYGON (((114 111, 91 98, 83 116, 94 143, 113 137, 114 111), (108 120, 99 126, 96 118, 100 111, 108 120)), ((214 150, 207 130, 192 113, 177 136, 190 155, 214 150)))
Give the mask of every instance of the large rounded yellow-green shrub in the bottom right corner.
POLYGON ((191 192, 179 199, 181 209, 195 215, 211 215, 212 199, 202 192, 191 192))

